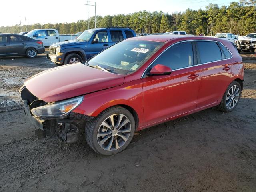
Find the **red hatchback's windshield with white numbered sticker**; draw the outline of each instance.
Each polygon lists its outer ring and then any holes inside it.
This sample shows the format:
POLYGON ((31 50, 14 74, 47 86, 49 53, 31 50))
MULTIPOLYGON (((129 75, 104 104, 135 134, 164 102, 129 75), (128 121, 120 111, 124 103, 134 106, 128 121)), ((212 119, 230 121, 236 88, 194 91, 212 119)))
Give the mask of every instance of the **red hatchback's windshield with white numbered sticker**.
POLYGON ((116 74, 135 72, 164 43, 144 40, 124 40, 104 50, 88 61, 89 66, 100 66, 116 74))

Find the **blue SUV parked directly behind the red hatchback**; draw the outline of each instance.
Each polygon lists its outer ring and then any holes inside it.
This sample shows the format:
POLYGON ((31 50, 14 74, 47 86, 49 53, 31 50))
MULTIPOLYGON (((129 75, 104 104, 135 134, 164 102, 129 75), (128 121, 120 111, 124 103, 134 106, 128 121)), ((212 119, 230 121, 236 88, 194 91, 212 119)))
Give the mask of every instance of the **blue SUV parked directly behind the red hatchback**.
POLYGON ((88 60, 102 50, 130 37, 130 28, 96 28, 84 31, 76 40, 52 44, 47 58, 57 66, 88 60))

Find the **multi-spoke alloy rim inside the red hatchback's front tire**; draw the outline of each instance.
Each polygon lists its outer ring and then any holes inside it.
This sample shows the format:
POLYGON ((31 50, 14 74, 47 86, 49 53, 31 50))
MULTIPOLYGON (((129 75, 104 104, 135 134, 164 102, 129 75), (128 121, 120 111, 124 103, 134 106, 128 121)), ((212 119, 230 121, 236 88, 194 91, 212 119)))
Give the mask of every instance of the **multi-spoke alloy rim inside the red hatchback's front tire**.
POLYGON ((130 120, 123 114, 113 114, 100 124, 97 134, 98 144, 107 151, 117 150, 126 143, 130 133, 130 120))

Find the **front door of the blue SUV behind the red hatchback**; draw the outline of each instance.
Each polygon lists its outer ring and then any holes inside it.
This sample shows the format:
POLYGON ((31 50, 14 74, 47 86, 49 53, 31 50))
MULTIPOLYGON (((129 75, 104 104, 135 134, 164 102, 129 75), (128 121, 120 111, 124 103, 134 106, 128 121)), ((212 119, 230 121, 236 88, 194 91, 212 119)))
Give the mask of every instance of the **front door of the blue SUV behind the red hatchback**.
POLYGON ((106 30, 98 31, 88 44, 89 58, 103 51, 110 46, 108 33, 106 30), (98 39, 98 42, 92 42, 93 39, 98 39))

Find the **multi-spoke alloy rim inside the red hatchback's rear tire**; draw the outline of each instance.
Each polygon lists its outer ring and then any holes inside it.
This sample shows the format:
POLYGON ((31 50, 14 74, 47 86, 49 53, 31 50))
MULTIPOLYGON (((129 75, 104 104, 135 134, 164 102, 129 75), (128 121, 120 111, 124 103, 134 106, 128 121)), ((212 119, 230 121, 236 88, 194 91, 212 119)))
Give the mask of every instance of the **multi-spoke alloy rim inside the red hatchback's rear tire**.
POLYGON ((239 96, 240 96, 239 87, 237 85, 233 85, 232 87, 230 87, 226 96, 227 108, 229 109, 234 108, 234 106, 236 106, 238 102, 239 96))

